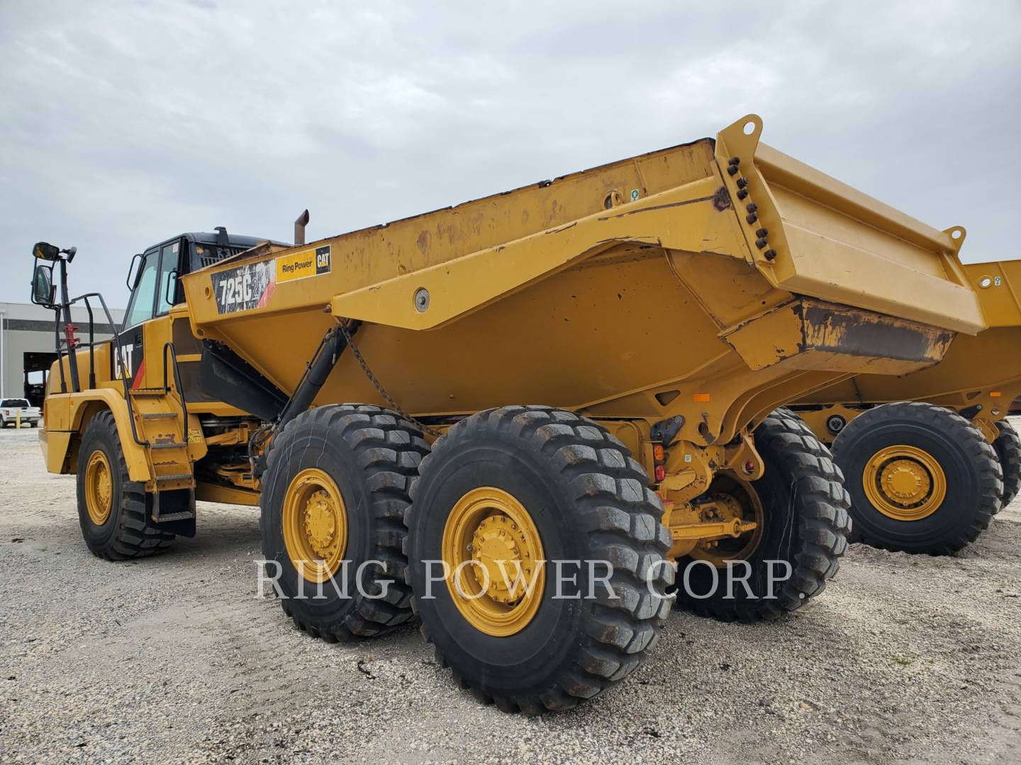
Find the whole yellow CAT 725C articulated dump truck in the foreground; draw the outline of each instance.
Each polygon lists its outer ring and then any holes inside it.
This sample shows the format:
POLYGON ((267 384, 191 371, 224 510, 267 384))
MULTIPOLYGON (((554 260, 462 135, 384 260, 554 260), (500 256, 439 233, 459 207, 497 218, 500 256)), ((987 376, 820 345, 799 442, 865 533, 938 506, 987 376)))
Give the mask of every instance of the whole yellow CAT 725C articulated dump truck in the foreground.
MULTIPOLYGON (((307 245, 303 213, 294 246, 150 249, 123 333, 64 326, 49 377, 47 465, 78 474, 86 542, 145 555, 194 533, 196 499, 257 504, 299 627, 414 611, 458 682, 526 713, 629 674, 675 599, 798 608, 837 569, 848 497, 771 412, 932 366, 985 322, 962 228, 761 132, 307 245)), ((36 254, 34 299, 69 324, 47 262, 69 255, 36 254)))

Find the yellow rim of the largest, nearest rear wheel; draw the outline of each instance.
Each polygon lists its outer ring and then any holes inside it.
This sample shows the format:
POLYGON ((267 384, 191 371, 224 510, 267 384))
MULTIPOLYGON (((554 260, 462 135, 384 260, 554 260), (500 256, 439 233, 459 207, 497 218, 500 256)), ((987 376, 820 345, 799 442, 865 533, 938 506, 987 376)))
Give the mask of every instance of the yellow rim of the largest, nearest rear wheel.
POLYGON ((542 540, 513 495, 481 487, 457 500, 443 527, 442 556, 450 597, 479 631, 504 638, 535 617, 546 583, 542 540))

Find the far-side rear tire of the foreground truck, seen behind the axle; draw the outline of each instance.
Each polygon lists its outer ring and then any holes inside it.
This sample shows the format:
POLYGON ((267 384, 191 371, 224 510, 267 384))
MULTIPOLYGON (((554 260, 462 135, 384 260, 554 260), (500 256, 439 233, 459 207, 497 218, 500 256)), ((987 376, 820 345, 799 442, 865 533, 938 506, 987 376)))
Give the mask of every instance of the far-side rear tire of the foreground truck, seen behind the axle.
MULTIPOLYGON (((677 603, 700 616, 757 622, 795 611, 822 594, 847 550, 850 498, 829 450, 805 421, 789 409, 777 410, 756 428, 755 443, 766 469, 750 488, 763 504, 765 529, 747 558, 751 597, 736 581, 730 593, 733 597, 728 597, 722 583, 713 588, 704 562, 682 558, 677 603), (791 574, 786 580, 777 578, 770 590, 768 566, 774 560, 789 563, 791 574), (686 566, 691 566, 690 594, 683 584, 686 566), (710 597, 693 597, 710 593, 710 597)), ((735 570, 743 573, 743 566, 738 570, 737 565, 735 570)), ((718 575, 723 582, 724 572, 718 575)))

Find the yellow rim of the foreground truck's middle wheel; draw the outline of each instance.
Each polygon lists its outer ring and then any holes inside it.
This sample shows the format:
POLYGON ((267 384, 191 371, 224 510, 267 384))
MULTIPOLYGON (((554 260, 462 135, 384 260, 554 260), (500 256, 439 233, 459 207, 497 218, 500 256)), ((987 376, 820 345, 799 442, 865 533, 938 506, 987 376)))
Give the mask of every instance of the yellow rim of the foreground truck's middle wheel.
POLYGON ((326 581, 347 550, 347 512, 337 483, 318 467, 294 476, 284 497, 284 546, 308 581, 326 581))

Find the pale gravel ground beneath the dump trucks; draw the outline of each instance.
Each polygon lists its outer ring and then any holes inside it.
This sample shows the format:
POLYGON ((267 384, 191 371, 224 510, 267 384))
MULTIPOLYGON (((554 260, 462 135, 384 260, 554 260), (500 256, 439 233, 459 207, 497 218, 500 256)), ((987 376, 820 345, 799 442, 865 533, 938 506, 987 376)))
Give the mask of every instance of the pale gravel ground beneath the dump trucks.
POLYGON ((0 760, 1021 760, 1021 502, 955 557, 853 546, 779 623, 675 613, 620 686, 540 718, 480 706, 414 628, 309 639, 255 597, 257 512, 201 504, 199 525, 100 561, 74 478, 0 431, 0 760))

